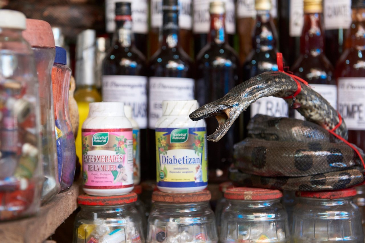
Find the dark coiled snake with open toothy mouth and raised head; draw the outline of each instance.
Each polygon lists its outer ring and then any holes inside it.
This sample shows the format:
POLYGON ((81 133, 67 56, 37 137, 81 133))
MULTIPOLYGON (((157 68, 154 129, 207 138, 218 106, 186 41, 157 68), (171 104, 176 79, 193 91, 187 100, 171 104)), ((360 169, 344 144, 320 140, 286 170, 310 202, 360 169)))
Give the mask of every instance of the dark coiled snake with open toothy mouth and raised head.
MULTIPOLYGON (((364 181, 360 158, 327 130, 339 123, 337 111, 318 93, 300 83, 297 109, 307 121, 257 115, 247 126, 249 137, 234 146, 237 170, 231 177, 245 185, 292 191, 347 188, 364 181)), ((285 72, 265 72, 234 87, 223 98, 192 114, 215 116, 218 129, 208 136, 219 141, 251 103, 266 96, 289 97, 297 83, 285 72)), ((291 104, 293 99, 287 99, 291 104)), ((347 139, 345 122, 334 131, 347 139)), ((358 149, 363 156, 363 153, 358 149)))

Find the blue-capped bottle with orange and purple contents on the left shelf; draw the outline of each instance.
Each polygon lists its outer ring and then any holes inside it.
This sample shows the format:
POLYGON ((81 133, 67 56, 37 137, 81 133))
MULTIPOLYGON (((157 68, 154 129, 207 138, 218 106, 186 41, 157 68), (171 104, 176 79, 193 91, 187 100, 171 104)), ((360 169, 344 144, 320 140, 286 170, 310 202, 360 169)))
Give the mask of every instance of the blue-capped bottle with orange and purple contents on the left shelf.
POLYGON ((75 139, 68 110, 68 96, 71 69, 66 67, 66 50, 56 46, 56 56, 52 67, 52 89, 56 145, 58 160, 58 179, 61 191, 71 187, 76 164, 75 139))

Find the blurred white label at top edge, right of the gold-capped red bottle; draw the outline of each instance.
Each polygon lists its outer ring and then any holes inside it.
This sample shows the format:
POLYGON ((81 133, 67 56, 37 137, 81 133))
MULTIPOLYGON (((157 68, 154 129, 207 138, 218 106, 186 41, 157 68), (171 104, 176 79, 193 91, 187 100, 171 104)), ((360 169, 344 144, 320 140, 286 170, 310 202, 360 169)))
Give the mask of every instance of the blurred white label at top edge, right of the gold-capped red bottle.
POLYGON ((348 29, 351 24, 351 0, 323 1, 324 29, 348 29))

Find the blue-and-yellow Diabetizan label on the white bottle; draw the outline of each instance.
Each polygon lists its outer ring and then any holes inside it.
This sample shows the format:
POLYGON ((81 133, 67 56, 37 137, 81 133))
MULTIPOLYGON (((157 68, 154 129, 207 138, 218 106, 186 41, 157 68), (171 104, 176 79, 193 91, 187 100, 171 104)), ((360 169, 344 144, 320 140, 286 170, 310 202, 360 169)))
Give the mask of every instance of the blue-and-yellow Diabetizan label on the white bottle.
POLYGON ((201 187, 208 184, 205 128, 156 128, 157 185, 201 187))

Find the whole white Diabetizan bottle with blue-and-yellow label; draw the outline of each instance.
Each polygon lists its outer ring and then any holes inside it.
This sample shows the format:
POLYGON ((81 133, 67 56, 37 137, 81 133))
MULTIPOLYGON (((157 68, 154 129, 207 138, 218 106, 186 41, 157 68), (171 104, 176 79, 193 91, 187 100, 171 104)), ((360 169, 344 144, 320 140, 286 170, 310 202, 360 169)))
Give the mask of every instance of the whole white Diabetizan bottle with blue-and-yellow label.
POLYGON ((157 188, 162 192, 199 192, 208 185, 206 124, 189 118, 198 107, 196 100, 162 102, 156 123, 157 188))

